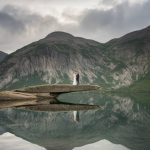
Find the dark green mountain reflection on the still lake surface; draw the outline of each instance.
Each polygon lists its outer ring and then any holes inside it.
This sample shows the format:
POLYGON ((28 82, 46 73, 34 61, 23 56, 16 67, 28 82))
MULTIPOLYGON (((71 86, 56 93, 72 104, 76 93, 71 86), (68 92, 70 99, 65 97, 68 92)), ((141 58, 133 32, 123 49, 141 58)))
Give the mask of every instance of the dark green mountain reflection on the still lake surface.
POLYGON ((0 126, 48 150, 74 147, 107 139, 131 150, 150 149, 150 95, 85 92, 66 94, 61 101, 101 105, 103 109, 78 112, 0 111, 0 126))

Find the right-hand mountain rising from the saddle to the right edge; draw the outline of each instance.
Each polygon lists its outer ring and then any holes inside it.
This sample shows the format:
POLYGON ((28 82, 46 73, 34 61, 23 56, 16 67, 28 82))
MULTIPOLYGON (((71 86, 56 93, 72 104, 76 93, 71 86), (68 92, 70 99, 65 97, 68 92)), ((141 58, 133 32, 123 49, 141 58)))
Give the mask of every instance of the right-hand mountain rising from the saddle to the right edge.
POLYGON ((106 45, 107 54, 122 63, 121 72, 114 73, 119 83, 125 81, 132 90, 150 92, 150 26, 113 39, 106 45))

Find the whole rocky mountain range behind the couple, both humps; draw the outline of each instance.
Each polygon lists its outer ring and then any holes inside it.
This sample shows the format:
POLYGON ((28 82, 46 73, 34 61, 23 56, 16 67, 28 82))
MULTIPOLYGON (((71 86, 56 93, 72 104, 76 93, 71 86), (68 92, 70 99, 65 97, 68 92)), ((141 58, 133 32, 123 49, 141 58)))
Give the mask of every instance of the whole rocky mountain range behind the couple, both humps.
POLYGON ((107 43, 53 32, 10 54, 0 64, 0 88, 42 83, 81 83, 106 88, 130 86, 150 72, 150 26, 107 43))

